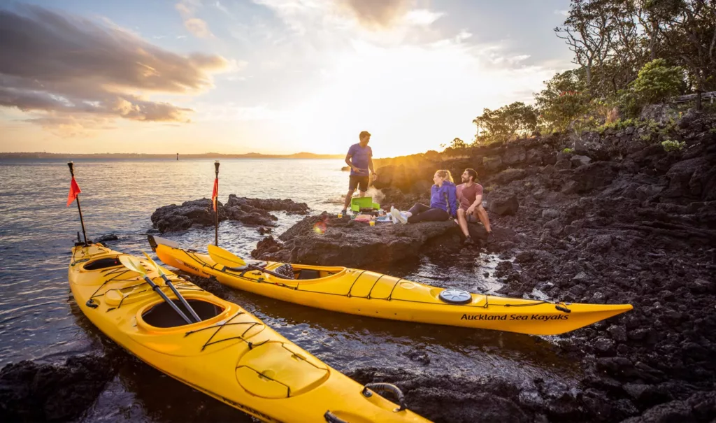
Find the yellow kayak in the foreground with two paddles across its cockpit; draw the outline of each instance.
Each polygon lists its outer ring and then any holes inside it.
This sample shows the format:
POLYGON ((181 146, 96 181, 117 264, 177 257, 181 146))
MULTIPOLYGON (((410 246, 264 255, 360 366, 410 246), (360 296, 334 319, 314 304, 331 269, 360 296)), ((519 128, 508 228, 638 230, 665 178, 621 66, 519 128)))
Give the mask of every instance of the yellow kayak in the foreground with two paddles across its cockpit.
MULTIPOLYGON (((159 268, 200 320, 187 324, 121 256, 99 243, 74 247, 74 299, 113 341, 174 379, 263 422, 429 422, 378 394, 392 390, 402 404, 395 386, 362 386, 243 308, 159 268)), ((147 277, 180 306, 153 269, 147 277)))

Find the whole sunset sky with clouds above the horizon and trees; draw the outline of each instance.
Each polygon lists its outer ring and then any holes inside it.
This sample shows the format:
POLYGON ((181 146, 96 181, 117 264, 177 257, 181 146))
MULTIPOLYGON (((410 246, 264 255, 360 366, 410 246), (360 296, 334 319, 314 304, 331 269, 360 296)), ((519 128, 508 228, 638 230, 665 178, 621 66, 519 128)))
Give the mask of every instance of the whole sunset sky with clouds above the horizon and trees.
POLYGON ((569 0, 0 4, 0 152, 344 154, 473 140, 571 69, 569 0))

